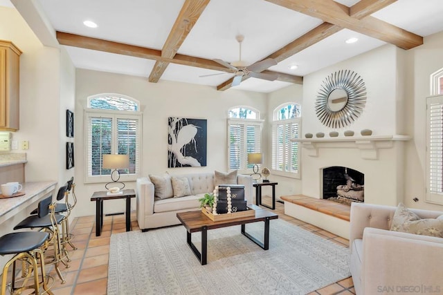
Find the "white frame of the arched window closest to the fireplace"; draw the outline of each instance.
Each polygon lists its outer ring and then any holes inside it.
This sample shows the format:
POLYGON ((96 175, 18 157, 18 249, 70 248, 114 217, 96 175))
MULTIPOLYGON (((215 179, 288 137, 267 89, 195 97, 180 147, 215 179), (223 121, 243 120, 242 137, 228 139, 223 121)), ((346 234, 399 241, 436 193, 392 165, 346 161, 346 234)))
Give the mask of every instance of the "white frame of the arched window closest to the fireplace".
MULTIPOLYGON (((283 125, 283 129, 286 130, 287 126, 290 124, 297 124, 298 125, 298 136, 300 136, 301 134, 301 117, 296 117, 296 118, 291 118, 291 119, 286 119, 286 120, 279 120, 278 118, 280 117, 280 110, 284 107, 284 106, 288 106, 289 104, 297 104, 295 102, 288 102, 286 104, 281 104, 280 106, 278 106, 277 108, 274 109, 273 111, 273 122, 271 123, 271 174, 274 175, 280 175, 280 176, 284 176, 284 177, 288 177, 288 178, 297 178, 300 179, 301 178, 301 146, 299 142, 291 142, 290 139, 291 138, 287 138, 287 134, 284 133, 283 134, 283 142, 288 142, 288 145, 284 145, 283 146, 283 155, 284 155, 284 164, 283 165, 283 169, 286 166, 291 166, 291 163, 288 163, 287 161, 289 161, 292 157, 291 154, 289 153, 289 151, 292 150, 293 145, 297 145, 298 149, 298 156, 297 156, 297 167, 298 170, 296 172, 293 171, 286 171, 286 170, 277 170, 275 169, 276 166, 276 158, 277 158, 277 152, 276 150, 278 149, 278 146, 275 146, 275 144, 278 143, 278 126, 279 125, 283 125)), ((298 106, 300 106, 300 104, 297 104, 298 106)), ((301 112, 300 112, 301 113, 301 112)))

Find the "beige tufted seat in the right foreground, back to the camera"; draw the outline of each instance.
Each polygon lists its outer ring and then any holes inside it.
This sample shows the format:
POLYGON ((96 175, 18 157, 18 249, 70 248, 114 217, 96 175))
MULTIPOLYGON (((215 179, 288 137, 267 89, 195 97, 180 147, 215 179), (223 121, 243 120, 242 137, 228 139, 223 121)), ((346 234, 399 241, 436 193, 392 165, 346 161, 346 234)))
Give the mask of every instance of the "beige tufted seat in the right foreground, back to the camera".
MULTIPOLYGON (((396 208, 352 203, 350 272, 356 294, 442 294, 443 238, 390 231, 396 208)), ((420 218, 443 214, 410 211, 420 218)))

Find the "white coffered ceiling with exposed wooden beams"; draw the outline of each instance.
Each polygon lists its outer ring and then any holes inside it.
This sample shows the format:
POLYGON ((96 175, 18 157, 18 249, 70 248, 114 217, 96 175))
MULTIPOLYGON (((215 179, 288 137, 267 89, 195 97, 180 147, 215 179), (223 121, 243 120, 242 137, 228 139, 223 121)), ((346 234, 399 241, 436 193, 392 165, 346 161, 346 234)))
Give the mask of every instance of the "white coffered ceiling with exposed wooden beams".
POLYGON ((234 74, 213 59, 239 60, 236 35, 244 35, 242 61, 271 57, 278 64, 262 73, 277 73, 278 79, 244 77, 232 88, 268 93, 302 84, 304 75, 386 43, 415 48, 443 30, 441 0, 12 0, 12 5, 42 43, 65 46, 77 68, 219 91, 231 88, 234 74), (84 26, 86 20, 98 27, 84 26), (46 24, 53 41, 37 23, 46 24), (351 37, 358 41, 345 43, 351 37), (210 76, 200 77, 205 75, 210 76))

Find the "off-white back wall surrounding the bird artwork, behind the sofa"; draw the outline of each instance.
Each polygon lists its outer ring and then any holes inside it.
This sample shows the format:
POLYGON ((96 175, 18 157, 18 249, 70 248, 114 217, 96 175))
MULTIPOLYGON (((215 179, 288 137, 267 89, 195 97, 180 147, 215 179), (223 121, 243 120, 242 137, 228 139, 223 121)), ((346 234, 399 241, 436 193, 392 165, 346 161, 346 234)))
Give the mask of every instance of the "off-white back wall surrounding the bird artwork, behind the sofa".
MULTIPOLYGON (((143 111, 143 148, 141 175, 227 171, 226 119, 228 108, 245 105, 266 113, 266 94, 248 91, 216 91, 213 87, 165 82, 150 83, 147 78, 77 69, 75 102, 75 179, 80 198, 77 216, 95 214, 90 201, 94 191, 105 184, 84 184, 84 120, 87 97, 98 93, 119 93, 138 99, 143 111), (168 117, 192 117, 208 120, 206 167, 168 169, 168 117)), ((263 117, 262 117, 263 118, 263 117)), ((250 172, 252 173, 252 172, 250 172)), ((134 182, 127 183, 134 188, 134 182)), ((105 202, 105 213, 124 211, 124 201, 105 202)), ((135 202, 132 202, 135 208, 135 202)))

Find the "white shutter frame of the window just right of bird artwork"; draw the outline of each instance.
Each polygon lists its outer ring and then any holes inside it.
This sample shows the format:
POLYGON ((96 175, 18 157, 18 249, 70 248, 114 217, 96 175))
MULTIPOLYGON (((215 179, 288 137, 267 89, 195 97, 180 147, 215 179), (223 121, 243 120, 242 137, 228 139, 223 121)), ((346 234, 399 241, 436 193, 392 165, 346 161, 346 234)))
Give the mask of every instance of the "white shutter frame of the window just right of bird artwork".
MULTIPOLYGON (((253 108, 249 108, 252 109, 253 108)), ((260 138, 258 139, 258 142, 255 142, 255 146, 254 149, 255 151, 253 151, 253 153, 261 153, 262 152, 262 138, 263 138, 263 122, 264 120, 251 120, 251 119, 228 119, 227 120, 227 142, 228 142, 228 169, 229 171, 233 171, 233 170, 237 170, 237 169, 231 169, 230 168, 230 126, 231 125, 243 125, 244 129, 243 129, 243 138, 246 140, 247 137, 247 127, 248 126, 255 126, 256 128, 258 127, 260 129, 260 138)), ((238 168, 240 173, 246 173, 246 171, 248 170, 248 151, 247 151, 247 146, 246 146, 246 142, 241 142, 240 146, 242 147, 242 151, 240 154, 240 166, 238 168)), ((260 166, 260 164, 259 164, 260 166)))

